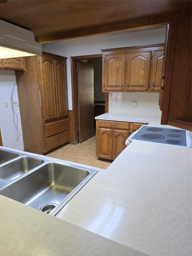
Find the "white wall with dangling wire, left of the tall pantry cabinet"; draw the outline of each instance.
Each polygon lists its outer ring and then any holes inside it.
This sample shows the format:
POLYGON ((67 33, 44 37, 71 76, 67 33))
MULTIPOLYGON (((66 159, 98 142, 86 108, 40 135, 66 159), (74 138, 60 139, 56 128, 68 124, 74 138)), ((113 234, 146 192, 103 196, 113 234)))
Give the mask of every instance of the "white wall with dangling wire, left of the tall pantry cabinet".
MULTIPOLYGON (((15 71, 0 70, 0 128, 4 147, 24 150, 23 138, 20 136, 19 140, 17 140, 17 131, 13 122, 11 90, 13 90, 15 83, 15 71), (4 107, 4 102, 8 103, 8 108, 4 107)), ((19 102, 16 86, 13 93, 13 101, 19 102)), ((14 110, 18 116, 17 126, 22 134, 19 107, 14 106, 14 110)))

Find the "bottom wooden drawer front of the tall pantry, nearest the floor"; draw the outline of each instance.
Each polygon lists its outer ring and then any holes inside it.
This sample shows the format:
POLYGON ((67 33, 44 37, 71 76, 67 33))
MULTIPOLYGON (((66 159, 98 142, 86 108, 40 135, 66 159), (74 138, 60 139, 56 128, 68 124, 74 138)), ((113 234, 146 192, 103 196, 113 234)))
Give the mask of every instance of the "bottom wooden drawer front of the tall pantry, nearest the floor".
POLYGON ((69 142, 69 131, 64 131, 46 139, 47 151, 69 142))

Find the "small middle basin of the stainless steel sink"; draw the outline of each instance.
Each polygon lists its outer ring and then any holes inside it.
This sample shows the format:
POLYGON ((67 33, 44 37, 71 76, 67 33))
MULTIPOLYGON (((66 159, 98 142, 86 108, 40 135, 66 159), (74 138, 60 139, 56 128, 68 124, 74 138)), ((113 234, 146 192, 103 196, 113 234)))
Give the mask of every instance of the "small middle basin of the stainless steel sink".
MULTIPOLYGON (((5 151, 4 151, 5 152, 5 151)), ((9 153, 9 152, 5 152, 9 153)), ((16 179, 22 174, 32 170, 44 161, 29 156, 23 156, 17 158, 7 164, 0 167, 0 178, 1 179, 16 179)))

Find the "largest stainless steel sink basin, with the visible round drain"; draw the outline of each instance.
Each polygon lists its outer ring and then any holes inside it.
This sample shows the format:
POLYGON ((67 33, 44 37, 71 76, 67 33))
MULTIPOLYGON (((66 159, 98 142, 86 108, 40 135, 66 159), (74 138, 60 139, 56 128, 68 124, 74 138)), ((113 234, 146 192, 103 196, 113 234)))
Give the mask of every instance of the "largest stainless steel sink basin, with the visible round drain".
POLYGON ((36 209, 56 213, 97 170, 49 162, 0 190, 0 194, 36 209))

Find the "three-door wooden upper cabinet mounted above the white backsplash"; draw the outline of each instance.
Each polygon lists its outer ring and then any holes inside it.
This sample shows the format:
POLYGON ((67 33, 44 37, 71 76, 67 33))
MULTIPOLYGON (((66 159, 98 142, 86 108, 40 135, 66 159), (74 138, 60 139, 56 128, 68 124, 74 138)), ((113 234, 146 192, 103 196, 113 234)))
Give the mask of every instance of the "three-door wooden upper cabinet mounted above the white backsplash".
POLYGON ((102 50, 102 92, 159 91, 164 44, 102 50))

